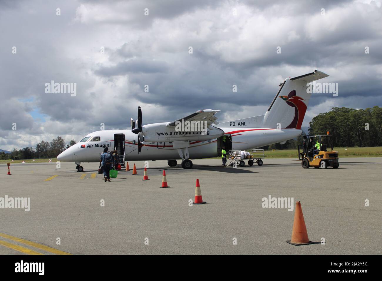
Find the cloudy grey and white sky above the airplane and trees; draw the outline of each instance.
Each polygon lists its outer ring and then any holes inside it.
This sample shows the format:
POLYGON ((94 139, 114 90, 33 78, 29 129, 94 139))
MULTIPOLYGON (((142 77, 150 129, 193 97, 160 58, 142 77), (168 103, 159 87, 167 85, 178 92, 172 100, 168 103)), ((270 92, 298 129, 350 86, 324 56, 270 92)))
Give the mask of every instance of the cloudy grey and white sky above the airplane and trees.
POLYGON ((313 94, 303 126, 332 107, 382 106, 381 26, 380 0, 3 0, 0 148, 126 129, 138 106, 143 124, 261 115, 286 77, 315 69, 338 96, 313 94), (76 96, 45 93, 52 80, 76 96))

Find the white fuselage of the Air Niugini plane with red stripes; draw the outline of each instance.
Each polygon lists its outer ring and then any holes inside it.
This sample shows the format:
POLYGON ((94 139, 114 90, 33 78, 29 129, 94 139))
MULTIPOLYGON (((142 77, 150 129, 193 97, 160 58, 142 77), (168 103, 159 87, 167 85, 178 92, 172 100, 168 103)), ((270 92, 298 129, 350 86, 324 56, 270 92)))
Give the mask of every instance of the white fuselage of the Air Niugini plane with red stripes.
MULTIPOLYGON (((225 135, 230 135, 232 150, 245 150, 258 148, 273 143, 291 140, 301 135, 298 129, 270 129, 270 128, 248 128, 227 127, 219 128, 225 135)), ((131 130, 102 130, 90 133, 87 136, 99 136, 100 141, 79 142, 66 149, 58 157, 58 161, 64 162, 99 162, 100 154, 105 147, 109 150, 114 148, 114 135, 125 135, 125 161, 133 160, 169 160, 181 159, 176 148, 171 142, 142 142, 141 153, 138 154, 137 135, 131 130)), ((91 138, 90 138, 91 139, 91 138)), ((211 158, 218 156, 217 138, 212 140, 190 141, 188 146, 189 158, 211 158)))

